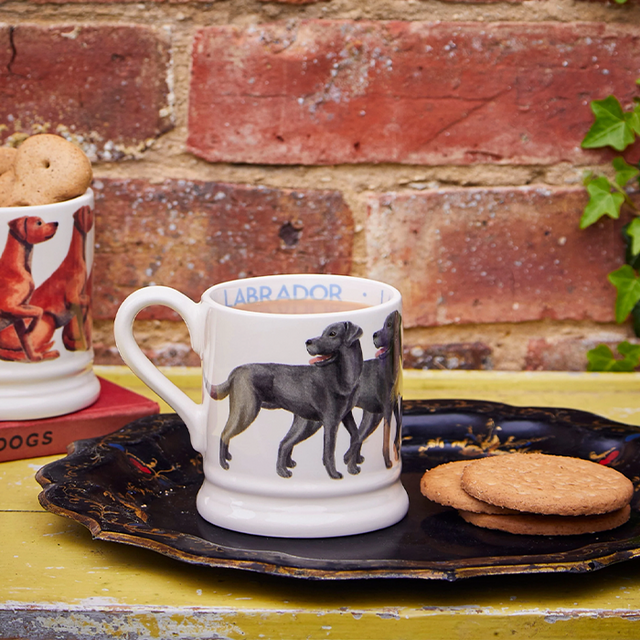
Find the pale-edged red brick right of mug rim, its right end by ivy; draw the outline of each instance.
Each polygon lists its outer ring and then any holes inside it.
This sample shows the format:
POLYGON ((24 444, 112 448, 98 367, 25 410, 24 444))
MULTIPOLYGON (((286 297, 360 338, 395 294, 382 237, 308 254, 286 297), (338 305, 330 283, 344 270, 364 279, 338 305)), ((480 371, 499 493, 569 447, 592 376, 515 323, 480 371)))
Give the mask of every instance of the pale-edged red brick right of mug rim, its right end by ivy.
POLYGON ((613 320, 622 221, 580 230, 581 188, 442 189, 369 199, 369 277, 405 325, 613 320))

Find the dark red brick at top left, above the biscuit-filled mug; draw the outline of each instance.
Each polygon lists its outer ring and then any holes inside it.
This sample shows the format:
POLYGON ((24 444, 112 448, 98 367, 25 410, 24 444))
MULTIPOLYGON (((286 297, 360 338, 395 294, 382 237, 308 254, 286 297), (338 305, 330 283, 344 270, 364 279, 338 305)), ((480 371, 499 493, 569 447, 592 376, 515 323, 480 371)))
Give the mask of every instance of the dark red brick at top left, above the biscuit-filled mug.
POLYGON ((168 131, 167 35, 142 26, 0 28, 2 140, 43 128, 92 158, 134 155, 168 131))

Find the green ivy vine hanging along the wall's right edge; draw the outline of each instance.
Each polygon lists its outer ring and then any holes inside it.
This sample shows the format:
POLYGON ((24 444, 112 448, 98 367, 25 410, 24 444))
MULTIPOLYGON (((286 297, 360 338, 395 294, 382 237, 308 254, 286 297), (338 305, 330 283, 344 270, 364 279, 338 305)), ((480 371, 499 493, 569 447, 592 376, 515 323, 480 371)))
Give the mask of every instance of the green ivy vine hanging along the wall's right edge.
MULTIPOLYGON (((626 0, 616 0, 623 4, 626 0)), ((636 80, 640 85, 640 79, 636 80)), ((640 136, 640 98, 634 99, 633 108, 623 110, 615 96, 591 102, 594 122, 587 132, 582 147, 596 149, 611 147, 624 151, 640 136)), ((622 229, 625 242, 625 264, 608 275, 616 288, 615 317, 617 323, 631 316, 633 330, 640 337, 640 208, 630 198, 629 191, 636 183, 640 186, 640 163, 629 164, 622 156, 612 161, 614 178, 596 176, 588 172, 584 185, 589 202, 580 219, 580 228, 595 224, 603 216, 617 219, 623 208, 635 217, 622 229)), ((640 345, 622 342, 616 357, 607 345, 599 345, 587 352, 588 371, 633 371, 640 365, 640 345)))

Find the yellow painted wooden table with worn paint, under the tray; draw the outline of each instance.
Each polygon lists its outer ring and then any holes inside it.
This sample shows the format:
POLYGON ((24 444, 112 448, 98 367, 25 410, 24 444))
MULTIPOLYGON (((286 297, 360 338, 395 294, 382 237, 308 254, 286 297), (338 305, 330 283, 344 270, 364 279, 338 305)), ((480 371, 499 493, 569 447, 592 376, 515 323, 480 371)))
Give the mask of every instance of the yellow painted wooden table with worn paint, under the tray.
MULTIPOLYGON (((153 397, 124 369, 98 373, 153 397)), ((167 373, 199 399, 197 372, 167 373)), ((409 372, 405 396, 563 406, 640 425, 636 374, 409 372)), ((34 474, 53 459, 0 464, 0 638, 640 639, 637 560, 452 583, 321 582, 193 566, 92 540, 43 511, 34 474)))

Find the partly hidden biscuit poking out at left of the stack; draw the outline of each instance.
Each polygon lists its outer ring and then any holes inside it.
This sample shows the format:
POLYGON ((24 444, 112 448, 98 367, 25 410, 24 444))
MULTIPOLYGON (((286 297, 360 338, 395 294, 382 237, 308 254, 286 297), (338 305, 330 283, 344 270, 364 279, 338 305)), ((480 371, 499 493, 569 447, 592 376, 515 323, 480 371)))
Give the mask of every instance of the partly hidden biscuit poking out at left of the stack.
POLYGON ((456 460, 429 469, 420 479, 422 495, 438 504, 475 513, 517 513, 477 500, 462 488, 462 472, 469 462, 470 460, 456 460))

